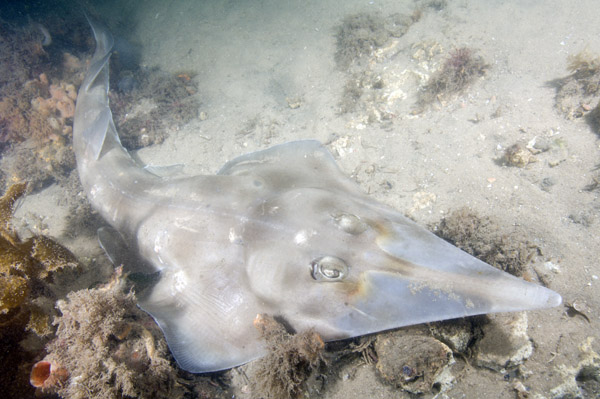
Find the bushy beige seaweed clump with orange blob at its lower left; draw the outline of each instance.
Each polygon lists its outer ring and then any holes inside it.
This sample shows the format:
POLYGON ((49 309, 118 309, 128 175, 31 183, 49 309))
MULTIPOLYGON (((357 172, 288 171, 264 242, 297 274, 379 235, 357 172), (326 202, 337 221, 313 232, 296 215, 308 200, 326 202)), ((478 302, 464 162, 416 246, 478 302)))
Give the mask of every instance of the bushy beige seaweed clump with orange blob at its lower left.
POLYGON ((121 269, 104 286, 71 292, 57 308, 56 338, 32 369, 42 392, 70 399, 181 396, 161 332, 125 291, 121 269), (58 376, 48 382, 52 369, 58 376))

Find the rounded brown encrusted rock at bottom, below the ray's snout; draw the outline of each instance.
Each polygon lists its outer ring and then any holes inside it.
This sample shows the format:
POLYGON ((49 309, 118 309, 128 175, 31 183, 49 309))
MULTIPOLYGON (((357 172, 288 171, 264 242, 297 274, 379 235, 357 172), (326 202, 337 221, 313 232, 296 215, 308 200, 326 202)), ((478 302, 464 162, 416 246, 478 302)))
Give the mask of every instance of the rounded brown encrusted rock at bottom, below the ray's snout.
POLYGON ((377 336, 377 370, 388 383, 413 394, 440 392, 454 381, 452 350, 418 331, 402 329, 377 336))

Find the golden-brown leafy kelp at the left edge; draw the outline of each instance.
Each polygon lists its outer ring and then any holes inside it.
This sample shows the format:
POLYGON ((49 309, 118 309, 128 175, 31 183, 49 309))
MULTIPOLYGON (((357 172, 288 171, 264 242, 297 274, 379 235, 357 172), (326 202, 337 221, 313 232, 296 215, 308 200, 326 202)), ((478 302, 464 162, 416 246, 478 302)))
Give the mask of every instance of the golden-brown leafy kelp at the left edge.
POLYGON ((26 184, 0 198, 0 386, 6 397, 31 394, 29 364, 53 333, 55 275, 78 265, 68 249, 45 236, 22 240, 11 225, 26 184))

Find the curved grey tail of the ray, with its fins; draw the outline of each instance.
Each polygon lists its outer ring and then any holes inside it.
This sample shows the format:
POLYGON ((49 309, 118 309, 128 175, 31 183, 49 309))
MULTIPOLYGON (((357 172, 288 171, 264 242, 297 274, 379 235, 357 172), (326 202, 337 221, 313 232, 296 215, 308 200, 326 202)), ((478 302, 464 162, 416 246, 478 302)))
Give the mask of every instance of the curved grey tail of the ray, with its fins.
POLYGON ((134 234, 137 223, 152 208, 151 201, 142 194, 157 177, 144 170, 121 145, 108 99, 114 40, 102 24, 90 17, 88 21, 96 50, 75 106, 73 149, 77 170, 94 209, 117 230, 134 234))

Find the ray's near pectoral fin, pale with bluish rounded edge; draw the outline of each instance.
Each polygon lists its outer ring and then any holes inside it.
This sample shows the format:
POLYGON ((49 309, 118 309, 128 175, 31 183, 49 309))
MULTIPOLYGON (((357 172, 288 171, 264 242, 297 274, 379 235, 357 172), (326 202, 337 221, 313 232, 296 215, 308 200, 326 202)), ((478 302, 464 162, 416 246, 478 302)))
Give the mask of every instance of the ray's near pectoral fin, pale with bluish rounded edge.
POLYGON ((192 373, 219 371, 264 355, 263 343, 252 324, 256 316, 253 304, 232 305, 241 292, 235 282, 210 281, 214 276, 203 278, 202 273, 188 274, 181 269, 166 268, 160 274, 152 290, 139 296, 138 304, 160 326, 183 369, 192 373), (231 291, 221 296, 205 289, 223 284, 231 291))

